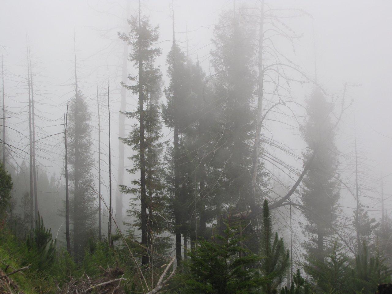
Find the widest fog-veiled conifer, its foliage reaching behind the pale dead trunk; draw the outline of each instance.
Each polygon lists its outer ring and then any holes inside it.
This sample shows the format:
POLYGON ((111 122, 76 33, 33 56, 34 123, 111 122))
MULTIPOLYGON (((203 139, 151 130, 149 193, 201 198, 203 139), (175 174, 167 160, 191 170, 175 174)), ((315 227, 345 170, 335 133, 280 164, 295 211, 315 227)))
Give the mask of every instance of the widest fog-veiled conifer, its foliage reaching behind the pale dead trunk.
MULTIPOLYGON (((220 189, 215 191, 218 212, 227 205, 234 205, 237 211, 244 211, 255 204, 261 206, 267 187, 267 173, 257 158, 257 175, 251 168, 254 162, 254 140, 256 133, 257 107, 255 107, 256 76, 254 56, 254 25, 245 20, 238 9, 224 11, 216 24, 211 51, 215 74, 212 77, 212 91, 218 107, 216 123, 216 151, 211 160, 214 182, 220 189), (256 181, 252 183, 252 179, 256 181), (258 191, 255 199, 254 191, 258 191)), ((258 149, 258 155, 261 152, 258 149)), ((243 223, 248 244, 257 247, 249 220, 243 223)), ((257 249, 252 249, 257 252, 257 249)))

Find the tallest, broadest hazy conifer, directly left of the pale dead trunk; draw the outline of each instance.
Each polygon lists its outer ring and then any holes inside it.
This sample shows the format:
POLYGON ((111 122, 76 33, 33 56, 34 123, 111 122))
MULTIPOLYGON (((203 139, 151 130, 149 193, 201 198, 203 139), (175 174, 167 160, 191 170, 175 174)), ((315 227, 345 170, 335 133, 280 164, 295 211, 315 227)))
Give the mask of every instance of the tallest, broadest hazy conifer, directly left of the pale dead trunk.
MULTIPOLYGON (((221 171, 220 193, 223 201, 236 204, 238 209, 249 205, 252 178, 254 138, 254 90, 252 58, 254 49, 245 40, 251 40, 252 27, 243 22, 238 11, 225 11, 216 24, 213 42, 212 65, 216 72, 213 87, 219 100, 218 123, 221 127, 222 145, 214 156, 214 166, 221 171)), ((259 177, 261 181, 262 176, 259 177)))

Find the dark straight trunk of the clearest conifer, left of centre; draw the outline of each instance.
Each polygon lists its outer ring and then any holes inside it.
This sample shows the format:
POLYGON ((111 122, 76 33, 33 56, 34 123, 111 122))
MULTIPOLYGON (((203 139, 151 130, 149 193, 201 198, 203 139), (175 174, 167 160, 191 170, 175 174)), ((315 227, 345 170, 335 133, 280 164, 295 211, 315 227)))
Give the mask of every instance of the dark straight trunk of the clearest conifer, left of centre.
MULTIPOLYGON (((139 1, 139 28, 140 20, 140 1, 139 1)), ((139 38, 141 38, 139 34, 139 38)), ((141 204, 141 223, 142 223, 142 246, 148 247, 148 227, 147 227, 147 197, 146 197, 146 176, 145 176, 145 142, 144 142, 144 109, 143 109, 143 60, 140 56, 139 66, 139 123, 140 123, 140 204, 141 204)), ((149 261, 148 253, 143 252, 142 264, 146 265, 149 261)))

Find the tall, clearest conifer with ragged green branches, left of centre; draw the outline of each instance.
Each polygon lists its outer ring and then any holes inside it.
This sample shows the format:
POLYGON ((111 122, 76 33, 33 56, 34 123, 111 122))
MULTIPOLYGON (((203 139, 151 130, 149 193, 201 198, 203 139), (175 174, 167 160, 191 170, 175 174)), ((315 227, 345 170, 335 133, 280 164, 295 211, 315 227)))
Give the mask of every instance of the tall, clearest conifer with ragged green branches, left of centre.
MULTIPOLYGON (((140 221, 138 227, 142 231, 141 244, 144 248, 151 250, 151 230, 154 227, 151 222, 153 198, 161 198, 162 194, 160 176, 160 155, 162 152, 161 123, 159 99, 161 96, 162 74, 160 69, 155 67, 155 59, 161 54, 161 49, 154 46, 159 38, 158 26, 152 27, 149 18, 141 17, 140 9, 138 17, 134 16, 129 20, 129 34, 120 34, 120 38, 127 41, 132 46, 129 60, 134 62, 138 68, 138 76, 130 77, 134 85, 128 86, 133 94, 138 94, 139 103, 135 111, 127 112, 128 118, 137 119, 138 124, 134 125, 127 138, 122 138, 123 143, 132 147, 136 153, 131 157, 134 165, 128 171, 132 174, 140 171, 140 179, 132 181, 136 187, 121 186, 125 193, 136 194, 140 200, 141 207, 131 210, 140 221)), ((156 199, 156 200, 158 200, 156 199)), ((133 203, 132 203, 133 204, 133 203)), ((154 207, 155 209, 155 207, 154 207)), ((150 250, 145 250, 142 255, 142 264, 149 262, 150 250)))

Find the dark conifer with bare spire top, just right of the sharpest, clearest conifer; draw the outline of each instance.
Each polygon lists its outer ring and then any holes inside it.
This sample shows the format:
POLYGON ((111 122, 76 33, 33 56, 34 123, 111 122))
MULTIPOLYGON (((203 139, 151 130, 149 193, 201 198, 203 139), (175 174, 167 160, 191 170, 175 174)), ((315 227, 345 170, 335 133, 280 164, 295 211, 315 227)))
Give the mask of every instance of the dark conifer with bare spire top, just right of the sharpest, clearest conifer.
MULTIPOLYGON (((165 88, 167 105, 162 105, 162 118, 165 125, 174 129, 173 146, 168 146, 167 162, 169 163, 166 182, 167 195, 170 199, 170 210, 173 215, 173 225, 176 238, 177 260, 181 260, 181 232, 188 231, 189 208, 187 204, 196 189, 194 177, 190 177, 194 162, 185 139, 185 129, 191 124, 189 113, 191 89, 189 70, 185 54, 178 45, 173 45, 167 55, 167 73, 170 78, 169 86, 165 88)), ((189 137, 187 137, 189 140, 189 137)))

